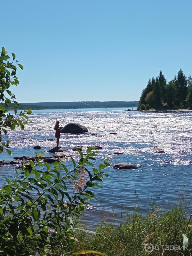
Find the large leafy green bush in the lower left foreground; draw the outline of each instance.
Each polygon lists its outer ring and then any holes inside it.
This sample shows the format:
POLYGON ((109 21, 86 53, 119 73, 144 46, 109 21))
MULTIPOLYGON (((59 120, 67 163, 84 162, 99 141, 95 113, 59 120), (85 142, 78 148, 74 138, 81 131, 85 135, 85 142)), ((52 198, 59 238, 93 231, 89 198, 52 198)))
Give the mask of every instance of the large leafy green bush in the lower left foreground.
MULTIPOLYGON (((94 148, 68 170, 64 163, 51 167, 41 163, 43 154, 36 154, 36 162, 24 164, 13 180, 0 190, 0 255, 75 255, 84 250, 76 240, 75 217, 84 212, 88 200, 95 195, 90 188, 100 187, 103 169, 91 160, 94 148), (75 253, 75 251, 77 252, 75 253)), ((101 253, 97 253, 101 254, 101 253)), ((104 255, 104 254, 103 254, 104 255)))

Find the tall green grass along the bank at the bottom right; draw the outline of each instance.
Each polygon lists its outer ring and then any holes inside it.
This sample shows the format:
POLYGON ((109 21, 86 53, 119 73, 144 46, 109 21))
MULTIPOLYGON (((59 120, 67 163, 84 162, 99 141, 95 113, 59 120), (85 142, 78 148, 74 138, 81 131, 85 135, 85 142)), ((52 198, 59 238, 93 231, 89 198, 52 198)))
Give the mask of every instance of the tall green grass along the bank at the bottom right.
MULTIPOLYGON (((182 209, 182 204, 175 205, 168 212, 162 212, 152 206, 152 211, 143 216, 137 210, 126 216, 126 221, 115 225, 115 221, 106 224, 102 221, 95 232, 98 235, 78 233, 78 240, 85 249, 98 250, 108 256, 146 256, 146 255, 184 255, 180 251, 167 251, 159 249, 150 253, 144 250, 147 243, 155 245, 181 245, 182 234, 189 239, 191 248, 192 226, 189 215, 182 209)), ((190 253, 190 252, 189 252, 190 253)))

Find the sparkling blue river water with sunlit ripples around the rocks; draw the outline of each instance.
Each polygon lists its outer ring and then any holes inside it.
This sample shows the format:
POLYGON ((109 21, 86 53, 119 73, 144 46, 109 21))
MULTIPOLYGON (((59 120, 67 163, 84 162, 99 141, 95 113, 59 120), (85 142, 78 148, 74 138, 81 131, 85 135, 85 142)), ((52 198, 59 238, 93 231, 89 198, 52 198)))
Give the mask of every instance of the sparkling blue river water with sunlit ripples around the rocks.
MULTIPOLYGON (((141 165, 136 170, 106 169, 109 177, 103 181, 103 189, 95 189, 98 200, 91 202, 95 208, 87 209, 83 217, 88 225, 97 224, 103 216, 110 221, 113 213, 117 220, 120 219, 122 206, 125 214, 135 206, 141 212, 146 212, 151 201, 158 203, 162 209, 167 209, 181 196, 190 200, 192 112, 124 110, 125 108, 34 110, 24 131, 16 129, 8 132, 4 138, 11 141, 12 157, 34 156, 35 145, 40 145, 42 151, 50 156, 47 151, 56 142, 47 139, 54 139, 54 124, 60 119, 62 125, 79 123, 89 130, 88 133, 79 135, 61 134, 60 146, 68 149, 68 155, 76 158, 78 154, 72 148, 77 145, 82 145, 84 150, 90 145, 97 145, 102 149, 99 150, 95 164, 109 156, 111 164, 125 162, 141 165), (110 132, 117 134, 109 135, 110 132)), ((9 159, 5 152, 0 157, 9 159)), ((66 162, 67 166, 69 164, 66 162)), ((11 178, 14 170, 11 166, 0 169, 1 187, 5 184, 3 175, 11 178)))

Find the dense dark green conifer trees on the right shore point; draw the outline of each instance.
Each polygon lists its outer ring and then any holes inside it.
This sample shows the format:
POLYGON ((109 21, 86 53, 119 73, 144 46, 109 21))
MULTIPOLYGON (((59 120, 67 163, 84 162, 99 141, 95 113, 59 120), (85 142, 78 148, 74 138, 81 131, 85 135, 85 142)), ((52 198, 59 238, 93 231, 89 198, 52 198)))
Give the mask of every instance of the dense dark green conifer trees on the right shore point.
POLYGON ((180 69, 170 82, 167 83, 162 71, 156 78, 149 79, 143 89, 138 108, 192 108, 192 77, 188 78, 180 69))

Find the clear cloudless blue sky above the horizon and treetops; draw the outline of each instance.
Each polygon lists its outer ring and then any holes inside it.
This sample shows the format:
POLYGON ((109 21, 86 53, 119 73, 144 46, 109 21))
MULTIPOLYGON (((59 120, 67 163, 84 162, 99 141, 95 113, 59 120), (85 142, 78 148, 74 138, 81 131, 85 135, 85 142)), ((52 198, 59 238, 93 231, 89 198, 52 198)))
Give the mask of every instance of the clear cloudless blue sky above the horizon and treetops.
POLYGON ((192 75, 191 0, 0 2, 19 102, 139 100, 160 70, 192 75))

